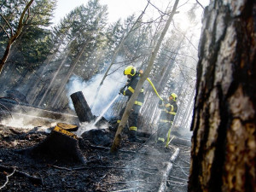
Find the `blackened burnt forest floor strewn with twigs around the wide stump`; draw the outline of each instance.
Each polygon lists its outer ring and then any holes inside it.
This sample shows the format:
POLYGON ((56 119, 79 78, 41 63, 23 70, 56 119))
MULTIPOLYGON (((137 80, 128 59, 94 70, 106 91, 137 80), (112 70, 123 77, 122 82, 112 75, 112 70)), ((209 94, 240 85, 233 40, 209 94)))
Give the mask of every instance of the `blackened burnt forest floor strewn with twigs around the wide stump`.
MULTIPOLYGON (((79 138, 85 164, 20 154, 42 143, 49 136, 44 130, 18 129, 0 125, 0 188, 3 191, 158 191, 166 163, 176 148, 177 159, 167 178, 166 191, 187 191, 190 147, 171 144, 163 148, 153 139, 140 137, 143 143, 130 143, 123 136, 117 154, 110 154, 111 143, 92 143, 79 138), (7 177, 15 169, 15 173, 7 177), (32 176, 32 177, 28 177, 32 176), (4 183, 6 183, 4 185, 4 183)), ((113 133, 105 131, 113 138, 113 133)))

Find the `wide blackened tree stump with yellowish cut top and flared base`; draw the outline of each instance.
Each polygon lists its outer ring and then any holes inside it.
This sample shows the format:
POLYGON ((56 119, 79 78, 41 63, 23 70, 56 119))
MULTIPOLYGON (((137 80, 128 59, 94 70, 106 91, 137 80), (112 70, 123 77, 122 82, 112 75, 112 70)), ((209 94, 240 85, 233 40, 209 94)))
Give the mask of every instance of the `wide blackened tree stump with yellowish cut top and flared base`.
POLYGON ((62 162, 83 164, 86 162, 79 148, 78 137, 59 126, 55 126, 55 129, 50 132, 42 143, 26 149, 25 153, 62 162))

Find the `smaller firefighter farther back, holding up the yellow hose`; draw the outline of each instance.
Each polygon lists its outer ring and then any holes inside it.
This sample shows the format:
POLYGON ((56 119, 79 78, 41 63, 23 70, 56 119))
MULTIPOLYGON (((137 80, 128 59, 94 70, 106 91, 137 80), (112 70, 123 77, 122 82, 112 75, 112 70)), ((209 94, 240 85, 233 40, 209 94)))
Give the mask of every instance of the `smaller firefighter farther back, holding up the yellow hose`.
POLYGON ((168 147, 170 141, 171 128, 173 124, 173 119, 177 113, 177 95, 172 93, 168 101, 159 101, 158 107, 161 109, 159 125, 157 130, 156 142, 160 144, 165 144, 168 147))

